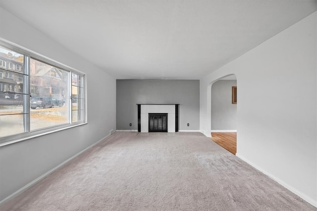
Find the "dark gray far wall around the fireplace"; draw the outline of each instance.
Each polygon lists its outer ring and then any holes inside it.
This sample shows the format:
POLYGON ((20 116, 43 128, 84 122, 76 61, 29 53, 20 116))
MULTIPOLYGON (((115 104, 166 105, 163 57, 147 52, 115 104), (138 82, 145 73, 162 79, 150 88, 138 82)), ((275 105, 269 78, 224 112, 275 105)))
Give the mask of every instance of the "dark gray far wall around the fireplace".
POLYGON ((136 104, 175 103, 180 104, 179 129, 199 130, 199 89, 199 80, 117 80, 116 129, 138 129, 136 104))

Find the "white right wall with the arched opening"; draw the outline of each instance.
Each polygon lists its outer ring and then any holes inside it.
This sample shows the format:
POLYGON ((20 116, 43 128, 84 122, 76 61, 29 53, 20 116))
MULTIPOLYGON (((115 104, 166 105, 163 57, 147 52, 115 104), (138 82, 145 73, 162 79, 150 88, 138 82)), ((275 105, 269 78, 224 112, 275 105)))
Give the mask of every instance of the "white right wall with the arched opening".
POLYGON ((237 156, 317 206, 317 12, 201 80, 200 126, 211 131, 211 83, 237 77, 237 156))

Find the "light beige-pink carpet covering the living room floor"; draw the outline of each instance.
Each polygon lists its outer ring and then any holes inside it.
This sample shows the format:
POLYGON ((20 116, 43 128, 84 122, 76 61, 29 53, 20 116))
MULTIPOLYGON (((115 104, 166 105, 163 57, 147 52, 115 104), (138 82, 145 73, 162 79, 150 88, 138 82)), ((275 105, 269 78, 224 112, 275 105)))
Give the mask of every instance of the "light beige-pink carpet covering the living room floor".
POLYGON ((1 211, 316 211, 201 133, 115 132, 1 211))

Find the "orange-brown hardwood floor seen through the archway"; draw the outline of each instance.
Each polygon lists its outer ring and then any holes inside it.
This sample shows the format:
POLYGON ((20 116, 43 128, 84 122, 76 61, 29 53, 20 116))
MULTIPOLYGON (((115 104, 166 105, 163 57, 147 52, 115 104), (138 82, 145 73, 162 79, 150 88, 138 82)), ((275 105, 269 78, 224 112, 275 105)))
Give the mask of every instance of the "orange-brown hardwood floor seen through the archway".
POLYGON ((211 140, 231 152, 237 152, 237 132, 211 132, 211 140))

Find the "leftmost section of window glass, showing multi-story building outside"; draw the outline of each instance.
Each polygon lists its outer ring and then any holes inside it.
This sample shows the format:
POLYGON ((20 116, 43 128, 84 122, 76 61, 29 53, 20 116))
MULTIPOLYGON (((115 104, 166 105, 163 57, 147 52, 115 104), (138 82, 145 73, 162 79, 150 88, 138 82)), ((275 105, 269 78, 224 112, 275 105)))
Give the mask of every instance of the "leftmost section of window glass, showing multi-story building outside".
POLYGON ((0 137, 26 131, 28 112, 27 89, 24 87, 25 56, 5 48, 0 49, 0 137))

